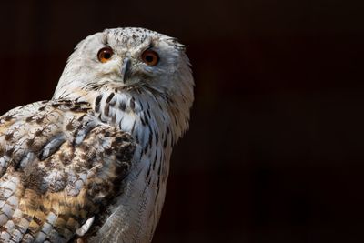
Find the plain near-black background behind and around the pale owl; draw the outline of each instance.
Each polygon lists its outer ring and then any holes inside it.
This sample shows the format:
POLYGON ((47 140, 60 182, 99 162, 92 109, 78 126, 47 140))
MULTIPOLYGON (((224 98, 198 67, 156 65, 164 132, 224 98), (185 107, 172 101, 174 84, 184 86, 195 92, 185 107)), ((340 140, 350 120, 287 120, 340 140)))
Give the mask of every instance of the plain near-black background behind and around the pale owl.
POLYGON ((176 36, 196 102, 153 242, 364 242, 360 2, 3 1, 0 111, 50 98, 86 35, 176 36))

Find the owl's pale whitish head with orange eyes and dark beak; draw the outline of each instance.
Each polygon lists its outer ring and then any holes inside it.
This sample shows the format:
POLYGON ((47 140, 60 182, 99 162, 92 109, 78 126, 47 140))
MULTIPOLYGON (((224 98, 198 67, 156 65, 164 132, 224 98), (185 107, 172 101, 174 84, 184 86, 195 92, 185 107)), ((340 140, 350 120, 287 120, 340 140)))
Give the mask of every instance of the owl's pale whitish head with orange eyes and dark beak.
POLYGON ((185 46, 175 38, 143 28, 116 28, 90 35, 76 46, 54 98, 112 89, 133 93, 136 99, 153 93, 189 116, 193 86, 185 46))

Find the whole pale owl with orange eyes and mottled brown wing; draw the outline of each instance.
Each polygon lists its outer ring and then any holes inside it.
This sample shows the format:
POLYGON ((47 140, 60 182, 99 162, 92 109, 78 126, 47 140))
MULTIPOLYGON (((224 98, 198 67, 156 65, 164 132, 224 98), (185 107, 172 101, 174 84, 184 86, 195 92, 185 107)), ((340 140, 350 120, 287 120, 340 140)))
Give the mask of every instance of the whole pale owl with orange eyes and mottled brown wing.
POLYGON ((0 117, 0 241, 150 242, 193 87, 173 37, 86 37, 51 100, 0 117))

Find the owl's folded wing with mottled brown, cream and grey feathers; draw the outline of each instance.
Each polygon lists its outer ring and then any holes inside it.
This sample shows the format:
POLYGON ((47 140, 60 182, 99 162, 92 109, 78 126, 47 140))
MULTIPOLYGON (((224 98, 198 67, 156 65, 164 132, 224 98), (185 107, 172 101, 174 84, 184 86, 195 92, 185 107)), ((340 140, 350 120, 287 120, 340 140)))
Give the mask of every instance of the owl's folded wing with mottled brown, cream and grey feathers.
POLYGON ((38 102, 0 117, 0 241, 67 242, 120 193, 134 149, 87 103, 38 102))

